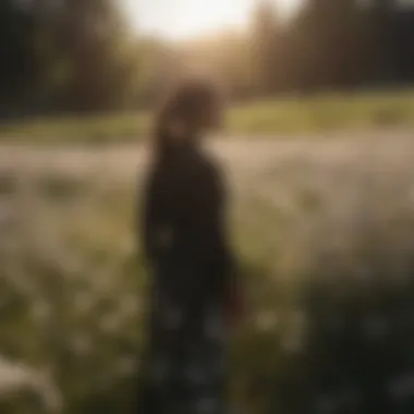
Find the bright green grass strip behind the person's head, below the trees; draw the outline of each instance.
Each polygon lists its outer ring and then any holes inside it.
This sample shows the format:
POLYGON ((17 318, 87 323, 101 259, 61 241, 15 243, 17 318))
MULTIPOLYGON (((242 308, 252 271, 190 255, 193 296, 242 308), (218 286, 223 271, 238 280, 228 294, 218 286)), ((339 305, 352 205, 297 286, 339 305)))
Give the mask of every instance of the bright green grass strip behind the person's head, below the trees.
MULTIPOLYGON (((59 117, 3 122, 2 142, 107 144, 136 142, 148 133, 147 113, 59 117)), ((229 136, 295 136, 331 131, 413 126, 413 92, 367 92, 290 96, 236 105, 229 111, 229 136)))

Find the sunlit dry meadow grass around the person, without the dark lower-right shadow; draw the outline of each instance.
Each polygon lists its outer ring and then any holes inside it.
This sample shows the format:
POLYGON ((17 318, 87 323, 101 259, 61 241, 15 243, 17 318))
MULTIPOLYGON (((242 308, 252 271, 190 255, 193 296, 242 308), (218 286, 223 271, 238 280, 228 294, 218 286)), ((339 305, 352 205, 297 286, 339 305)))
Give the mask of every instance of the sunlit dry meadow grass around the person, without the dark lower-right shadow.
MULTIPOLYGON (((234 245, 252 305, 234 343, 235 400, 264 412, 266 404, 282 406, 268 400, 272 387, 306 372, 295 367, 314 310, 303 303, 310 281, 328 281, 317 302, 338 318, 346 292, 377 292, 373 276, 386 276, 392 289, 405 285, 413 270, 414 142, 390 133, 212 147, 228 167, 234 245), (352 291, 352 283, 372 284, 352 291), (329 302, 338 291, 341 301, 329 302), (261 391, 252 379, 265 381, 261 391)), ((146 300, 132 233, 144 150, 4 146, 0 160, 0 305, 8 315, 0 354, 47 369, 71 414, 127 406, 124 381, 136 369, 146 300)), ((361 304, 382 315, 367 297, 361 304)))

